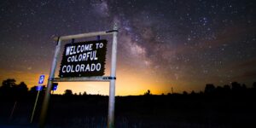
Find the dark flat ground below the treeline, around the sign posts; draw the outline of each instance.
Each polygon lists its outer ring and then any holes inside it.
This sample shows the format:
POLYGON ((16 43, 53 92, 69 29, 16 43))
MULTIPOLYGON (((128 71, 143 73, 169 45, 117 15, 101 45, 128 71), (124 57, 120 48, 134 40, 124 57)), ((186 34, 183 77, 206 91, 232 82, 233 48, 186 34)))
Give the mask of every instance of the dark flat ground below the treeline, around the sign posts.
MULTIPOLYGON (((30 124, 35 94, 0 97, 0 127, 37 127, 43 94, 30 124), (15 110, 10 116, 14 104, 15 110)), ((230 94, 117 96, 115 126, 120 128, 256 127, 254 91, 230 94)), ((46 127, 107 127, 108 96, 51 96, 46 127)))

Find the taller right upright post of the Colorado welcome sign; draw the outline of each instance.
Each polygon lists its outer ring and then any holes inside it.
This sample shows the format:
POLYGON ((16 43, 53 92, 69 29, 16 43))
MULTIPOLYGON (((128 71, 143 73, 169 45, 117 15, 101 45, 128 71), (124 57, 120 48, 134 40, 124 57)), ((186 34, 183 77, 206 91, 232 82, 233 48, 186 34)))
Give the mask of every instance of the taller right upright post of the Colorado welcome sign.
POLYGON ((115 96, 115 75, 116 75, 116 56, 117 56, 117 32, 118 26, 113 25, 113 44, 111 55, 111 72, 112 79, 109 84, 109 100, 108 100, 108 128, 114 127, 114 96, 115 96))

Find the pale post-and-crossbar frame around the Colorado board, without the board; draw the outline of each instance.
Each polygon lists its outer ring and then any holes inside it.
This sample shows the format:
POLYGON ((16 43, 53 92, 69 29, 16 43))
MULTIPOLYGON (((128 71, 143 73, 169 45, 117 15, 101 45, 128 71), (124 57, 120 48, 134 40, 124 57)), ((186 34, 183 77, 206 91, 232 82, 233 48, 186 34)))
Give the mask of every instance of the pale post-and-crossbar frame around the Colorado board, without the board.
POLYGON ((89 32, 77 35, 68 35, 54 38, 57 41, 55 46, 55 55, 50 68, 47 89, 44 95, 43 107, 40 115, 39 127, 45 126, 46 114, 49 106, 50 90, 53 82, 76 82, 76 81, 106 81, 109 82, 109 99, 108 99, 108 128, 114 127, 114 101, 115 101, 115 80, 116 80, 116 60, 117 60, 117 23, 113 24, 113 30, 105 32, 89 32), (104 35, 113 35, 110 76, 95 76, 95 77, 76 77, 76 78, 55 78, 55 69, 57 66, 58 56, 60 55, 61 41, 77 38, 90 38, 104 35))

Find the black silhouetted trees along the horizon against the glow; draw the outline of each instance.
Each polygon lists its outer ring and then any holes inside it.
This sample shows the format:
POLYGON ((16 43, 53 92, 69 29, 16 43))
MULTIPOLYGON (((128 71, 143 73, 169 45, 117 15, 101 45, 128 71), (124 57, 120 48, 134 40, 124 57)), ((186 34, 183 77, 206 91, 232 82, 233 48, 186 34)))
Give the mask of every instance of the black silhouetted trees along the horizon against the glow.
MULTIPOLYGON (((46 90, 45 85, 43 85, 43 90, 40 90, 41 94, 44 94, 46 90)), ((245 95, 247 93, 253 93, 256 90, 256 82, 253 83, 252 87, 247 88, 246 84, 239 84, 237 82, 232 82, 231 85, 225 84, 224 86, 215 86, 214 84, 206 84, 205 90, 202 92, 195 93, 194 90, 191 93, 187 91, 183 91, 183 95, 195 95, 195 94, 206 94, 212 96, 227 96, 227 95, 245 95)), ((37 86, 33 86, 30 90, 28 90, 27 85, 24 82, 20 82, 20 84, 16 84, 15 79, 6 79, 3 80, 2 85, 0 86, 0 96, 6 96, 6 98, 16 98, 17 100, 23 98, 29 94, 36 94, 38 92, 37 86)), ((178 93, 168 93, 167 95, 179 95, 178 93)), ((73 94, 73 90, 65 90, 63 96, 85 96, 87 95, 86 91, 82 94, 73 94)), ((150 90, 147 90, 144 96, 152 95, 150 90)), ((164 94, 162 94, 164 95, 164 94)))

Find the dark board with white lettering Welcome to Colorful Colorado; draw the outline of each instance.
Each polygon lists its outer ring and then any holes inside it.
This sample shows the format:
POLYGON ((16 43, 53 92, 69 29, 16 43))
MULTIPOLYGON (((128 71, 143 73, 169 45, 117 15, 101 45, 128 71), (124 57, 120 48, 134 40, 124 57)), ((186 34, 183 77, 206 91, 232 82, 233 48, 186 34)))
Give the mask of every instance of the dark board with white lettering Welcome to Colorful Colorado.
POLYGON ((107 40, 66 44, 59 77, 104 75, 107 44, 107 40))

